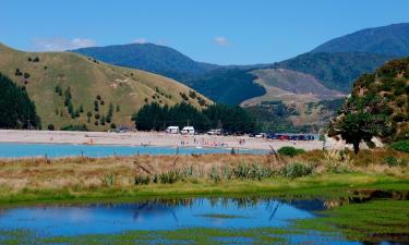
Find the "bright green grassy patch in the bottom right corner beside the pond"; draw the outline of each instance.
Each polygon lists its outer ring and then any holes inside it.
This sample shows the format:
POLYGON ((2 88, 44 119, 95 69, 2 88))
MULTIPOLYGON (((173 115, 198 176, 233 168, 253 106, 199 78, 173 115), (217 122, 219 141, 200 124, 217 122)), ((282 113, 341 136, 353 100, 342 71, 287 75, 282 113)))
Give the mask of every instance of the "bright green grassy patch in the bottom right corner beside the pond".
POLYGON ((303 230, 317 230, 333 234, 338 231, 350 241, 406 243, 409 237, 408 200, 371 200, 348 204, 320 212, 320 217, 296 221, 303 230))

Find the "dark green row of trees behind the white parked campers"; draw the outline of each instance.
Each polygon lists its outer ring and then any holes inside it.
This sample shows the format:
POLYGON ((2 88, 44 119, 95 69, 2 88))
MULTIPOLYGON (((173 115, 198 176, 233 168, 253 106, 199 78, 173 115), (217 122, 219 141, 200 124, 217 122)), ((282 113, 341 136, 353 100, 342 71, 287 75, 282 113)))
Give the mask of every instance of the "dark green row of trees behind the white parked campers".
POLYGON ((153 102, 145 105, 132 120, 139 131, 164 131, 168 126, 194 126, 199 132, 224 128, 230 133, 249 133, 256 130, 255 118, 238 106, 213 105, 204 110, 182 102, 173 107, 153 102))

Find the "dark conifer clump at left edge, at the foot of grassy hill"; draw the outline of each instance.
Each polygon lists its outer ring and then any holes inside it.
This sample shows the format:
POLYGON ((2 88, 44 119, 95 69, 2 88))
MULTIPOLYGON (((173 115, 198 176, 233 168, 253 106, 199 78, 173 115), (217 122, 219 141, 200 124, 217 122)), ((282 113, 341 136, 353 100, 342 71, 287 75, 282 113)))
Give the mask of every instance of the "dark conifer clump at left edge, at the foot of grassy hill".
POLYGON ((40 128, 40 120, 27 93, 0 73, 0 128, 40 128))

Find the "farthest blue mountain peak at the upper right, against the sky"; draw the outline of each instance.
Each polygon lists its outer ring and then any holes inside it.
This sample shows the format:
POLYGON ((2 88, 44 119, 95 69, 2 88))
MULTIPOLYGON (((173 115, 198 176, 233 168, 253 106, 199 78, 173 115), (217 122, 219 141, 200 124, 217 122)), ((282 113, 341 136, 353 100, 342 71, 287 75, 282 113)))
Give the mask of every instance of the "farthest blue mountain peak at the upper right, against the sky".
POLYGON ((368 52, 383 56, 409 56, 409 23, 362 29, 329 40, 312 52, 368 52))

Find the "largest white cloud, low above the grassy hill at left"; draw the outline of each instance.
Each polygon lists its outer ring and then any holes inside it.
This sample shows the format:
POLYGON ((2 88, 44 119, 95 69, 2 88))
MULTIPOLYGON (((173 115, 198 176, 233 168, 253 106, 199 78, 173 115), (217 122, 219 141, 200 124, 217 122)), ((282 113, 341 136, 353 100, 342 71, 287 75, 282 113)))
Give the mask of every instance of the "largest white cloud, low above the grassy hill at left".
POLYGON ((33 42, 35 50, 38 51, 65 51, 96 46, 96 41, 89 38, 36 38, 33 42))

